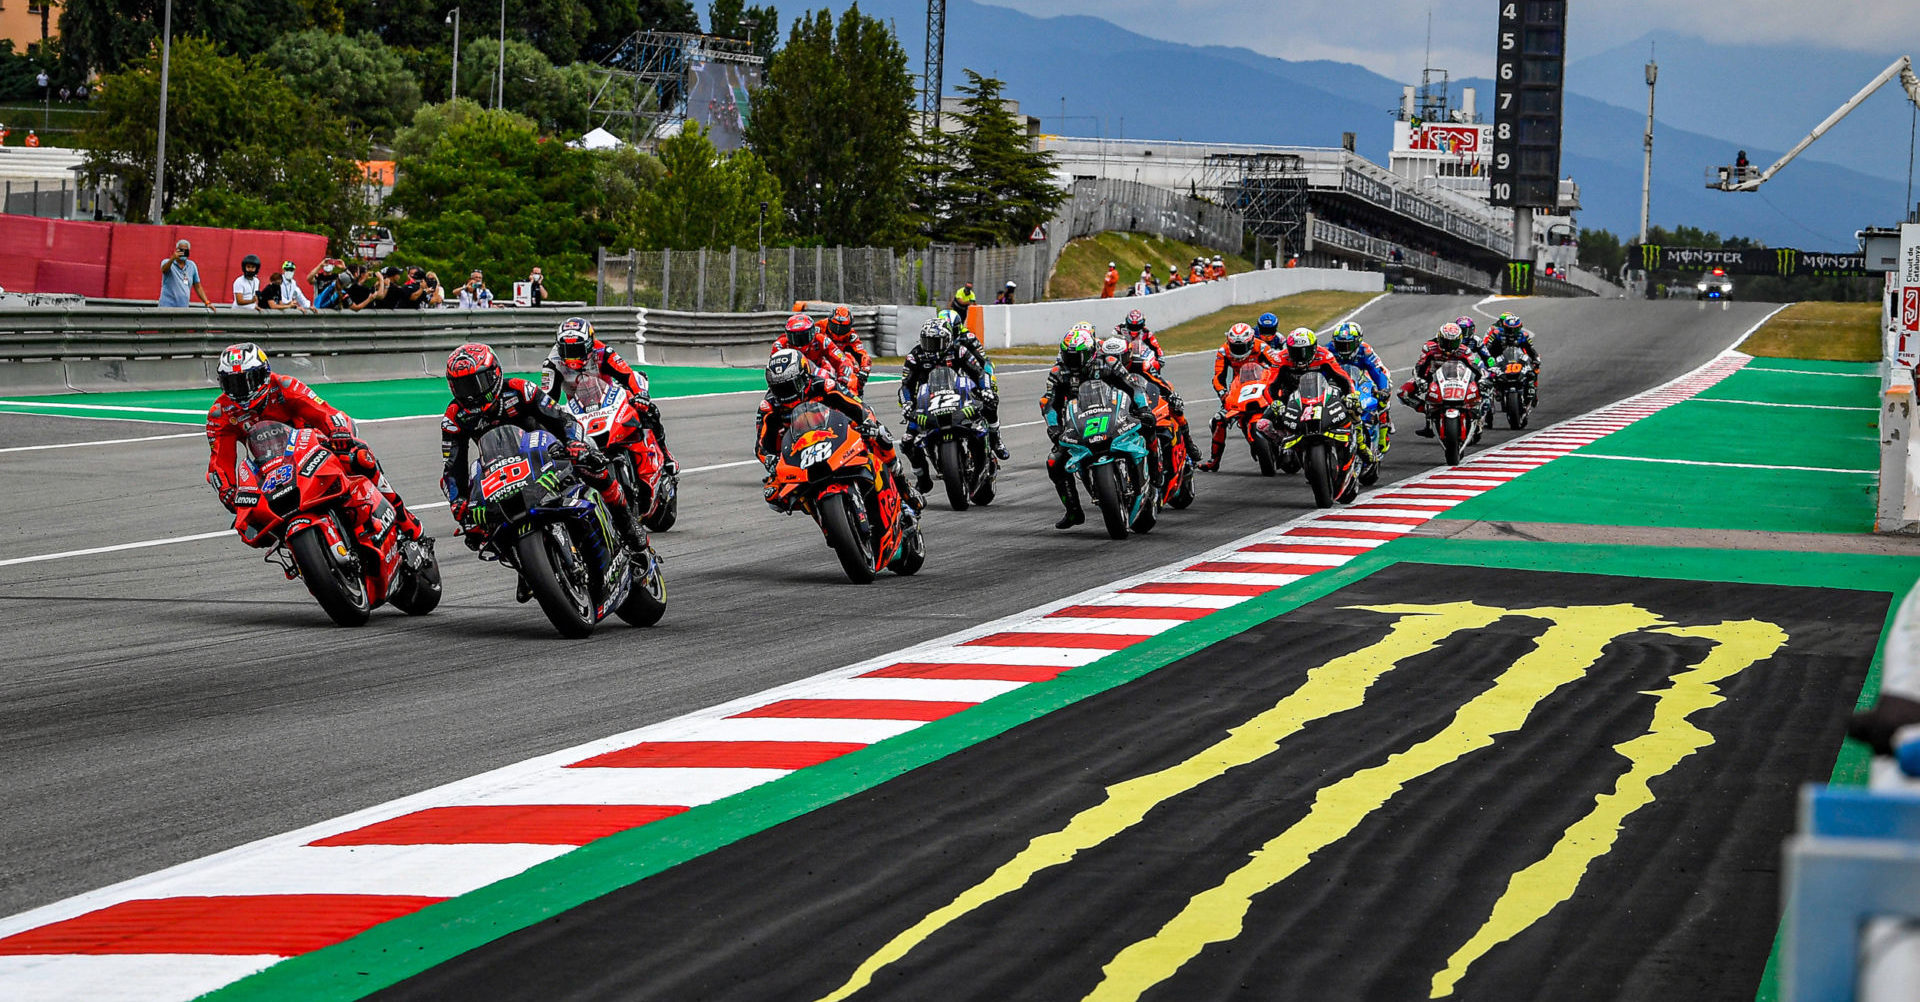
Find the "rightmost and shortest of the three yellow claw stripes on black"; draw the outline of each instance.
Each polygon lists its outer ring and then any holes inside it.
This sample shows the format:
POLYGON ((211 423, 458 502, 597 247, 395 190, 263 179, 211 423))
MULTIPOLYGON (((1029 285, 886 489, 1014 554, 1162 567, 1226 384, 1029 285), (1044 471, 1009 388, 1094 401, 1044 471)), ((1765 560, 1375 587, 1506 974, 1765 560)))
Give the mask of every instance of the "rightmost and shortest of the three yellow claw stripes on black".
POLYGON ((1713 733, 1693 726, 1688 718, 1724 701, 1716 683, 1774 656, 1774 651, 1788 643, 1784 630, 1759 620, 1670 626, 1655 632, 1709 639, 1715 649, 1699 666, 1676 674, 1667 689, 1647 693, 1655 699, 1647 733, 1613 747, 1632 766, 1615 781, 1613 793, 1594 797, 1594 810, 1569 825, 1540 862, 1507 881, 1507 891, 1494 902, 1486 925, 1455 950, 1446 967, 1434 975, 1432 998, 1453 994, 1473 962, 1571 898, 1588 866, 1613 850, 1626 818, 1653 802, 1653 779, 1672 772, 1686 756, 1713 745, 1713 733))

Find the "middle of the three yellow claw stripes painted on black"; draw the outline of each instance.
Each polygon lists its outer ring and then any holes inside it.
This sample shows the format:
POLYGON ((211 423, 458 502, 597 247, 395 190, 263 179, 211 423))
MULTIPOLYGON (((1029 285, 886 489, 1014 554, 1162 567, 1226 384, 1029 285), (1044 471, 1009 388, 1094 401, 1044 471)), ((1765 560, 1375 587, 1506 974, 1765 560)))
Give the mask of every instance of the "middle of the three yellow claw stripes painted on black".
MULTIPOLYGON (((1369 607, 1392 612, 1432 612, 1444 607, 1369 607)), ((1480 607, 1475 607, 1480 608, 1480 607)), ((1313 797, 1308 816, 1258 848, 1252 860, 1215 887, 1202 891, 1162 929, 1119 952, 1102 967, 1087 1002, 1133 1000, 1173 977, 1208 944, 1240 935, 1254 896, 1304 868, 1313 852, 1348 837, 1405 783, 1486 749, 1494 737, 1517 731, 1544 699, 1578 681, 1607 645, 1665 620, 1636 605, 1486 610, 1548 620, 1534 649, 1507 666, 1494 685, 1473 697, 1436 735, 1392 754, 1380 766, 1356 772, 1313 797)))

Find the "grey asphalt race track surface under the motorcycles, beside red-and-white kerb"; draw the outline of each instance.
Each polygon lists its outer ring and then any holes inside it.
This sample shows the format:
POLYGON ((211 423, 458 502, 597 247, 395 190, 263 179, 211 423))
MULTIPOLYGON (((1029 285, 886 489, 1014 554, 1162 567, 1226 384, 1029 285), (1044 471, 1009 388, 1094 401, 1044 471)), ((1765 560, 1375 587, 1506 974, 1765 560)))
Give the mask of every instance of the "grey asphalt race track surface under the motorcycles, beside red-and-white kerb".
MULTIPOLYGON (((1357 319, 1396 380, 1473 298, 1386 298, 1357 319)), ((1498 311, 1486 305, 1484 311, 1498 311)), ((1534 426, 1657 386, 1772 307, 1534 299, 1546 355, 1534 426)), ((1484 315, 1482 315, 1484 324, 1484 315)), ((1204 434, 1212 359, 1169 363, 1204 434)), ((1229 441, 1227 472, 1150 534, 1054 532, 1041 369, 1002 367, 1014 463, 991 509, 927 516, 927 566, 849 585, 820 532, 760 501, 751 394, 664 401, 682 518, 659 536, 668 614, 559 639, 509 572, 442 536, 445 599, 340 630, 232 536, 54 561, 21 557, 221 532, 180 426, 0 415, 0 914, 154 871, 484 770, 883 655, 1273 526, 1311 505, 1229 441), (1016 426, 1031 422, 1025 426, 1016 426)), ((324 394, 324 388, 323 388, 324 394)), ((1402 436, 1382 484, 1440 463, 1402 436)), ((897 417, 881 407, 883 417, 897 417)), ((1513 432, 1490 432, 1498 443, 1513 432)), ((367 440, 415 501, 438 497, 438 422, 367 440)))

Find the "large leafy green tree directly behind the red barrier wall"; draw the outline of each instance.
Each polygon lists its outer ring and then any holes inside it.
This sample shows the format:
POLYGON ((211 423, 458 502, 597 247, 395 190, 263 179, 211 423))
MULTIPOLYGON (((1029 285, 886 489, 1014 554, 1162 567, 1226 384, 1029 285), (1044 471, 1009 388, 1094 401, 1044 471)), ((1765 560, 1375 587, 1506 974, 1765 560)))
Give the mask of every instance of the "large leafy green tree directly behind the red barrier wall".
MULTIPOLYGON (((100 79, 96 115, 81 132, 90 175, 117 175, 119 209, 146 219, 154 192, 154 121, 159 117, 159 56, 100 79)), ((202 190, 228 190, 276 205, 300 225, 324 232, 336 248, 363 219, 365 188, 355 161, 363 138, 321 102, 296 94, 253 60, 223 56, 205 38, 173 42, 167 102, 167 211, 202 190)), ((194 213, 238 211, 221 200, 194 202, 194 213)))

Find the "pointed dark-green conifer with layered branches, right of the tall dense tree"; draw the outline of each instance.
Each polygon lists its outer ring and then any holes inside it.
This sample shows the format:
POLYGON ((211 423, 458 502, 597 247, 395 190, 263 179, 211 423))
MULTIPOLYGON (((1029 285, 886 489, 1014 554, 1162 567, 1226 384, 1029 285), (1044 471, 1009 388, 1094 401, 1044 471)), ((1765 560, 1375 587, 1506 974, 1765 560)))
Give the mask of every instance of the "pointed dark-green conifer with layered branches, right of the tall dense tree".
POLYGON ((1027 144, 1023 123, 1000 98, 1004 84, 966 71, 958 131, 933 140, 939 157, 935 234, 962 244, 1023 244, 1068 194, 1054 184, 1052 154, 1027 144))

